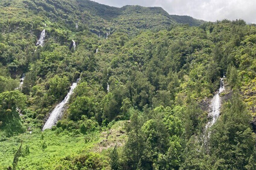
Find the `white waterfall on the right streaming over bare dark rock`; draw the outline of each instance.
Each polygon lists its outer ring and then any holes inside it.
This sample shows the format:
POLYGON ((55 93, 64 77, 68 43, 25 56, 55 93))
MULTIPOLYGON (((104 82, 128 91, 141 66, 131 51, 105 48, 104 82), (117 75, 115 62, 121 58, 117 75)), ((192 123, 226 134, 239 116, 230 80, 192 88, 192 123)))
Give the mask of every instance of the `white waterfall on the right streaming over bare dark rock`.
POLYGON ((220 97, 219 94, 225 90, 224 84, 223 84, 223 79, 224 77, 220 80, 220 87, 218 92, 214 95, 212 101, 211 101, 211 107, 212 107, 212 112, 209 114, 209 116, 211 116, 213 119, 211 121, 209 121, 206 125, 206 129, 210 128, 217 120, 217 118, 220 115, 220 107, 221 107, 221 101, 220 101, 220 97))

